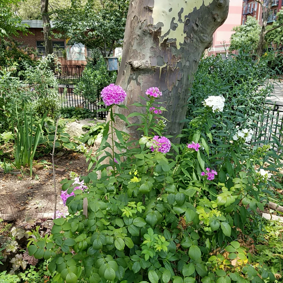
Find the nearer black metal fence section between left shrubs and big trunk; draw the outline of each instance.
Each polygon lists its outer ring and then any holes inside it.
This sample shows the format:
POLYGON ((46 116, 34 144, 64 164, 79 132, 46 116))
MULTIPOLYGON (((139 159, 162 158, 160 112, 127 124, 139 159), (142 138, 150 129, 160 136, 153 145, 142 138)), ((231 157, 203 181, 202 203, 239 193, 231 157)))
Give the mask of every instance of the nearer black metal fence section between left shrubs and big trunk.
POLYGON ((96 117, 99 119, 106 119, 107 117, 106 111, 97 112, 97 110, 104 108, 104 106, 100 105, 100 101, 95 103, 88 102, 80 95, 74 93, 73 85, 59 85, 59 97, 62 106, 89 109, 92 112, 96 112, 96 117))

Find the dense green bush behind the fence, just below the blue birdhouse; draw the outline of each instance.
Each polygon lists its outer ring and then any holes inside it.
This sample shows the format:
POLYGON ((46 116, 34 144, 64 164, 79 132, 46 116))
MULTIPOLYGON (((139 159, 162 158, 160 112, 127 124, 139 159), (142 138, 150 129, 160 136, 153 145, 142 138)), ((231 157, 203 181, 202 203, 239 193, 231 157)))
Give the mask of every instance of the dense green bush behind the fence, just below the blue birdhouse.
POLYGON ((74 93, 82 96, 86 102, 96 103, 102 89, 115 83, 116 77, 116 71, 107 71, 106 61, 101 54, 93 52, 93 58, 88 60, 82 78, 75 84, 74 93))

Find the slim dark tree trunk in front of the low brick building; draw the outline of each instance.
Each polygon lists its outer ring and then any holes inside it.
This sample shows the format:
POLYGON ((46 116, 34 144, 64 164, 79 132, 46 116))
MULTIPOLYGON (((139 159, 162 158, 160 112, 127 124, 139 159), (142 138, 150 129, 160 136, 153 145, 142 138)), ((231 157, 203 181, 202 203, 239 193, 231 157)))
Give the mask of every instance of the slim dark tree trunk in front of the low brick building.
POLYGON ((48 0, 41 0, 41 14, 43 25, 43 36, 46 56, 53 53, 53 45, 50 33, 50 19, 48 15, 48 0))

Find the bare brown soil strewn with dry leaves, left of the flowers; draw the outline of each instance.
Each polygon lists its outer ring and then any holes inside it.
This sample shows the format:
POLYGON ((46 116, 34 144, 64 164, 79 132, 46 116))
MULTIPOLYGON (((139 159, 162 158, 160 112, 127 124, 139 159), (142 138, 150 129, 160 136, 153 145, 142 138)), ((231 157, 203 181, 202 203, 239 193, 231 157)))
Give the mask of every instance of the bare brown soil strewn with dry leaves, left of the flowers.
MULTIPOLYGON (((52 163, 51 156, 43 159, 52 163)), ((40 164, 40 160, 38 163, 40 164)), ((32 177, 29 173, 23 176, 0 173, 0 218, 7 217, 8 214, 9 217, 14 218, 13 221, 17 222, 17 225, 22 225, 29 220, 42 219, 43 213, 53 215, 55 196, 52 165, 43 165, 44 168, 34 173, 32 177)), ((60 198, 62 185, 59 182, 65 178, 70 179, 70 171, 82 176, 86 175, 87 164, 82 154, 65 151, 55 165, 67 169, 63 175, 55 174, 57 210, 65 212, 66 208, 60 198)), ((44 218, 47 218, 46 215, 44 218)))

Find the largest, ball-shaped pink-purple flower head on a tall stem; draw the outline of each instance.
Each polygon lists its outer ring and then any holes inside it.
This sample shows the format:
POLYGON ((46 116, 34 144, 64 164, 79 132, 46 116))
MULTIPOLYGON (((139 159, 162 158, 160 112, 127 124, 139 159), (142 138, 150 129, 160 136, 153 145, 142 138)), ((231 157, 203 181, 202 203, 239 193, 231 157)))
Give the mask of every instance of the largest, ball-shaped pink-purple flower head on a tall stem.
POLYGON ((120 87, 111 83, 101 91, 101 97, 106 106, 120 104, 125 100, 127 93, 120 87))

